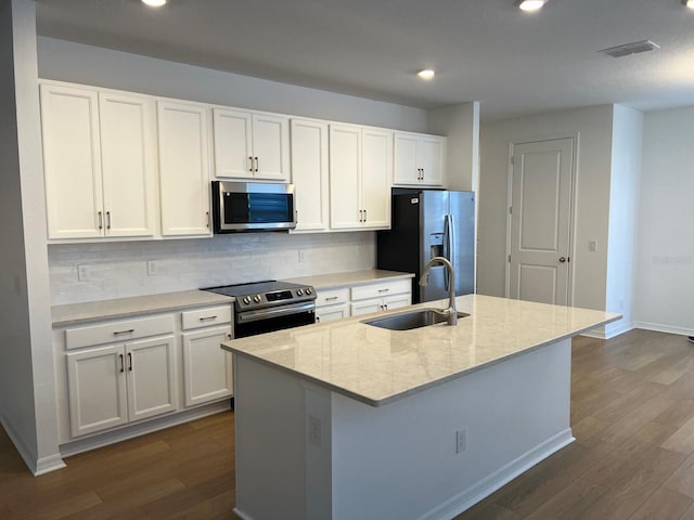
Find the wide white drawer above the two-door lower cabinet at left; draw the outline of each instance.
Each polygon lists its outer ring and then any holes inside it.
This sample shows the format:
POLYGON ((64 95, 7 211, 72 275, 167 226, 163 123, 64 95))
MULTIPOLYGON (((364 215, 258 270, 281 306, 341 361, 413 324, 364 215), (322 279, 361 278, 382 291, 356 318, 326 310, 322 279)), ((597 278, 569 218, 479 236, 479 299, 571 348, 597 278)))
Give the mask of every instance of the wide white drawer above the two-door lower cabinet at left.
POLYGON ((170 334, 174 332, 174 315, 143 317, 139 320, 118 320, 117 322, 70 327, 65 329, 65 348, 79 349, 94 344, 129 341, 147 336, 170 334))

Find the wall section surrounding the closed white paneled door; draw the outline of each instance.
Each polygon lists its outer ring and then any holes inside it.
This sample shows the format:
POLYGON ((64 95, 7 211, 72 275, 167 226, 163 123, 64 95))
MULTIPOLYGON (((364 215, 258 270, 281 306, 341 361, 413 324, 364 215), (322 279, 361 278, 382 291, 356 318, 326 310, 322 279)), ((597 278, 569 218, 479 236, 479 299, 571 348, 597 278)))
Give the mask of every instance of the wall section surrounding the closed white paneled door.
POLYGON ((577 136, 575 223, 570 304, 605 309, 612 105, 494 121, 481 126, 478 268, 479 294, 503 296, 505 289, 506 218, 510 143, 577 136), (597 250, 588 251, 596 240, 597 250))

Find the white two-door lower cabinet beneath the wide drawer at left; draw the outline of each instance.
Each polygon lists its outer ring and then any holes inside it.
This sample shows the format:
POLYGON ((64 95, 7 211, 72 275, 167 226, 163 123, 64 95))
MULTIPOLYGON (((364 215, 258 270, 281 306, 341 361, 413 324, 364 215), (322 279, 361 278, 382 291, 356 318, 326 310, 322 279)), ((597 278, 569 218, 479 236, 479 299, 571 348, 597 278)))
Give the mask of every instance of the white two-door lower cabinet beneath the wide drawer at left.
POLYGON ((66 354, 73 437, 177 410, 172 335, 66 354))

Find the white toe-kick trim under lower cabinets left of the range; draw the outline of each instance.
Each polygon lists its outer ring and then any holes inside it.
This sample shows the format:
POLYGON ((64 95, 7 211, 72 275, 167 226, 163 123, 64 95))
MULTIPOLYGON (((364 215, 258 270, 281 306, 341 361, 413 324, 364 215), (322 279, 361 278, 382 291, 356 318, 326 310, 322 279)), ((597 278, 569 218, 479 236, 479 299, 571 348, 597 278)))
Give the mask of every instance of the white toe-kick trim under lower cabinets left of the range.
POLYGON ((154 431, 164 430, 171 426, 182 425, 190 422, 191 420, 201 419, 208 415, 218 414, 230 408, 229 399, 218 401, 204 406, 187 410, 178 414, 168 415, 157 419, 143 420, 142 422, 131 425, 128 427, 118 428, 116 430, 99 433, 83 439, 76 439, 65 444, 60 445, 60 451, 63 457, 69 457, 77 455, 78 453, 88 452, 98 447, 115 444, 116 442, 132 439, 134 437, 144 435, 154 431))

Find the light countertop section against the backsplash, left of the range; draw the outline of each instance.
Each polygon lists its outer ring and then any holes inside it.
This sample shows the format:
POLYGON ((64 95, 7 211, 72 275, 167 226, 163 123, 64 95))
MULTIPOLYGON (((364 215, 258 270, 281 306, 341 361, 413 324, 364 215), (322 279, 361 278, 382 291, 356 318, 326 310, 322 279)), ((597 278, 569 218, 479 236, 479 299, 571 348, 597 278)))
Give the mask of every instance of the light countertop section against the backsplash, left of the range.
POLYGON ((193 307, 231 303, 229 296, 217 295, 206 290, 182 290, 160 295, 134 296, 113 300, 89 301, 66 306, 53 306, 51 317, 53 326, 75 325, 77 323, 117 317, 139 316, 153 312, 179 311, 193 307))

